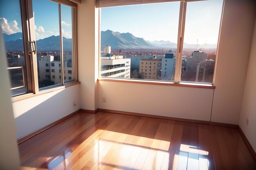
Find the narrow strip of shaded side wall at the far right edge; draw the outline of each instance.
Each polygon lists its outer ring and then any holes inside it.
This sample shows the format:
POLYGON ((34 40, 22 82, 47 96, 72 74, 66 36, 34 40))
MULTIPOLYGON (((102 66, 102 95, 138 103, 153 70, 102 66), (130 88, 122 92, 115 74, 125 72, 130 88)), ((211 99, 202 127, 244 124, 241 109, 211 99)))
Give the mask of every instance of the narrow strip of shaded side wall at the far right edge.
POLYGON ((245 133, 250 144, 256 151, 256 21, 254 34, 245 81, 245 91, 243 105, 240 115, 239 126, 245 133), (249 124, 246 125, 246 119, 249 118, 249 124))

